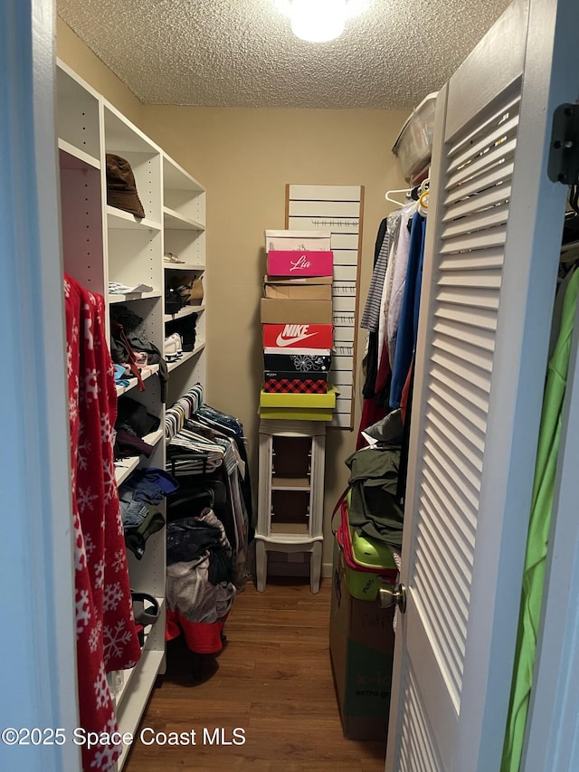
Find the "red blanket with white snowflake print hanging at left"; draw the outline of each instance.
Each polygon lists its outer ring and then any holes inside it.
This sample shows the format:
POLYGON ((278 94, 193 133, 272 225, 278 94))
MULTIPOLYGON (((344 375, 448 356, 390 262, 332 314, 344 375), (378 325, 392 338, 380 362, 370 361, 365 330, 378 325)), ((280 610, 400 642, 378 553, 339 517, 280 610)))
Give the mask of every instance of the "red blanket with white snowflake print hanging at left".
MULTIPOLYGON (((117 394, 104 299, 68 275, 64 296, 80 718, 83 729, 106 739, 118 729, 106 673, 140 657, 112 449, 117 394)), ((82 767, 107 770, 121 749, 83 746, 82 767)))

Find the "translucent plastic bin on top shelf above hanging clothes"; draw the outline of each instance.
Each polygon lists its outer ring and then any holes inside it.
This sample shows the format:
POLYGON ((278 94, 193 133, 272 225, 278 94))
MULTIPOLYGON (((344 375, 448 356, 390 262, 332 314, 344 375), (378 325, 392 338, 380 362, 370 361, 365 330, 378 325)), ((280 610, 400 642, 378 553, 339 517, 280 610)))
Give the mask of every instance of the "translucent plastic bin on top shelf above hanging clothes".
POLYGON ((392 152, 398 157, 408 182, 425 171, 430 162, 437 95, 438 92, 429 94, 414 108, 394 142, 392 152))

